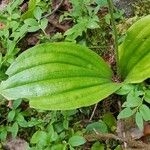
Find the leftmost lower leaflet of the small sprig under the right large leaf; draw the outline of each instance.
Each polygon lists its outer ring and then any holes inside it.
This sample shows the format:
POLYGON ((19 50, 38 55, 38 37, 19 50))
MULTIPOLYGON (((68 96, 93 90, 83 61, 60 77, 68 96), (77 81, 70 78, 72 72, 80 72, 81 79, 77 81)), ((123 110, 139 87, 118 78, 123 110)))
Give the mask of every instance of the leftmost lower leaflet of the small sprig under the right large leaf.
POLYGON ((132 115, 133 115, 133 111, 129 107, 127 107, 119 113, 118 119, 128 118, 132 115))

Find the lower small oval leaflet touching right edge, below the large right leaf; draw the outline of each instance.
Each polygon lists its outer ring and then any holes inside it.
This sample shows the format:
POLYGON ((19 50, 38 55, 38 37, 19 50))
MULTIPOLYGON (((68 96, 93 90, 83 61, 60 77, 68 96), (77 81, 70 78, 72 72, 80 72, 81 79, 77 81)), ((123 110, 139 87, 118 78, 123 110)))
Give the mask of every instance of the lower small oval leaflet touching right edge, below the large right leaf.
POLYGON ((139 108, 139 111, 145 121, 150 120, 150 108, 148 106, 144 104, 141 105, 139 108))

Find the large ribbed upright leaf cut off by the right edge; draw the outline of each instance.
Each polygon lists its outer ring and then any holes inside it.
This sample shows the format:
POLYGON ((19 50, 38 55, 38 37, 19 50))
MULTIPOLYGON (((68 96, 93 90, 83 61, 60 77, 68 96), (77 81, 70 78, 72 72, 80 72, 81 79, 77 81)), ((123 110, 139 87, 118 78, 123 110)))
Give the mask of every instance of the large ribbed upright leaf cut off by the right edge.
POLYGON ((138 83, 150 77, 150 15, 140 19, 127 31, 119 47, 122 77, 128 83, 138 83))

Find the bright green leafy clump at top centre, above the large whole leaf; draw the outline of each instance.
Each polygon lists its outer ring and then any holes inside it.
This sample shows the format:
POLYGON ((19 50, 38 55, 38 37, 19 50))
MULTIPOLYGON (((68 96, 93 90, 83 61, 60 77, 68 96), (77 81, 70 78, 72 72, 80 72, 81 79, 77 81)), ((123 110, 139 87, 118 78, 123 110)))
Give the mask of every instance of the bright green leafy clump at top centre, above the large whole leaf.
POLYGON ((73 9, 70 13, 64 13, 61 16, 60 21, 72 19, 75 25, 67 30, 64 35, 66 41, 75 41, 79 36, 82 36, 87 29, 99 28, 99 18, 96 15, 100 5, 92 2, 91 0, 70 0, 73 9), (96 6, 92 6, 96 5, 96 6))

